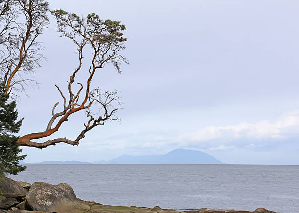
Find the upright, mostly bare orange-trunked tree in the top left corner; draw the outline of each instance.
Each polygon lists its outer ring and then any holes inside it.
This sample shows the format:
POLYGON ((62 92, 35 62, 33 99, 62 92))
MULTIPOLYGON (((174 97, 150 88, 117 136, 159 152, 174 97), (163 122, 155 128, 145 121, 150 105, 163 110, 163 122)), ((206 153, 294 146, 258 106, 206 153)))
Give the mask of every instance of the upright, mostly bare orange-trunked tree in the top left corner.
POLYGON ((39 36, 49 24, 48 11, 45 0, 0 0, 0 80, 10 97, 36 83, 26 76, 43 59, 39 36))

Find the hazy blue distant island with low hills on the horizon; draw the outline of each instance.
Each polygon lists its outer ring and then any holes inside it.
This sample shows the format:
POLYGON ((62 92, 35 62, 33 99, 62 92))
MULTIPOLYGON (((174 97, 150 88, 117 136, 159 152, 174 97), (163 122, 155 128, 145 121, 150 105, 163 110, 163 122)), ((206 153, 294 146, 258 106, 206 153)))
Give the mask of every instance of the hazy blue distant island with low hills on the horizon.
POLYGON ((223 164, 212 155, 190 149, 174 149, 164 155, 121 155, 112 160, 94 162, 81 161, 43 161, 21 164, 223 164))

